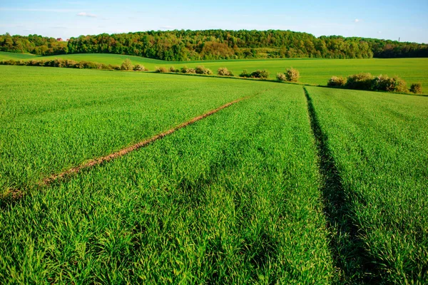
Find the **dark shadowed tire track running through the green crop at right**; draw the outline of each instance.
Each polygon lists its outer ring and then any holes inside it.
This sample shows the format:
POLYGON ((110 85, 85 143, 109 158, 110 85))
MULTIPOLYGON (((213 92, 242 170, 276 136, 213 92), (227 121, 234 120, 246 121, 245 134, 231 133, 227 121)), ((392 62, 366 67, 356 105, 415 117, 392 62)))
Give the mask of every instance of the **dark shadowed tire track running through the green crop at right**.
POLYGON ((318 168, 322 179, 320 190, 324 200, 327 228, 331 233, 330 250, 337 270, 334 284, 378 283, 376 268, 367 254, 360 231, 352 222, 350 200, 342 185, 335 158, 328 147, 328 137, 322 132, 312 99, 303 87, 307 113, 317 147, 318 168))

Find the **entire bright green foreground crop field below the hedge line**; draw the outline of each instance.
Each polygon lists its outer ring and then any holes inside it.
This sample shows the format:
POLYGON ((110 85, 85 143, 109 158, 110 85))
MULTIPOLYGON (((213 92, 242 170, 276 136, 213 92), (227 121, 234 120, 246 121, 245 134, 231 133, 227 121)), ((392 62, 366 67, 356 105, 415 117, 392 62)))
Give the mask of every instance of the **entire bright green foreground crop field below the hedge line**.
POLYGON ((427 97, 157 73, 0 73, 0 189, 25 193, 0 199, 4 284, 428 282, 427 97))

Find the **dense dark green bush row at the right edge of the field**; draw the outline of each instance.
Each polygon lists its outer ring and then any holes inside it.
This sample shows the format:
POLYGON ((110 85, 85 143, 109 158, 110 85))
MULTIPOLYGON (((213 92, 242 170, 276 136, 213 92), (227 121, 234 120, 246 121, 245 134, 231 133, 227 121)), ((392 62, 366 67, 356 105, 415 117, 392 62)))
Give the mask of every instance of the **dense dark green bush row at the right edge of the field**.
MULTIPOLYGON (((409 92, 407 83, 398 76, 389 77, 387 75, 372 76, 370 73, 358 73, 342 78, 332 76, 327 82, 327 86, 336 88, 347 88, 355 90, 372 90, 387 92, 409 92)), ((422 93, 422 84, 414 83, 410 87, 412 93, 422 93)))

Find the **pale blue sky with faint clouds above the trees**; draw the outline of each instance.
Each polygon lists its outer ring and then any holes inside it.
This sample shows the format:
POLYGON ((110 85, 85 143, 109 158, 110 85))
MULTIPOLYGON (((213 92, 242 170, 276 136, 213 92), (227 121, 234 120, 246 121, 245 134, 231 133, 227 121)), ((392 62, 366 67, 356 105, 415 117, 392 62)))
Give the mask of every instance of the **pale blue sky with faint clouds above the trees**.
POLYGON ((422 1, 0 0, 0 33, 70 38, 170 29, 281 29, 428 43, 422 1))

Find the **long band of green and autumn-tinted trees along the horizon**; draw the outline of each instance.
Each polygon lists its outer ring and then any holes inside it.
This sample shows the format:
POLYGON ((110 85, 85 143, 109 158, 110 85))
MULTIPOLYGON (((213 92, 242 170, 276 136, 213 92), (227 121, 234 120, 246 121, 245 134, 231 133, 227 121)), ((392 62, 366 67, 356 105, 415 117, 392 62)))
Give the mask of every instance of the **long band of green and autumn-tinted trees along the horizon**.
POLYGON ((315 37, 294 31, 145 31, 78 36, 68 42, 38 35, 0 36, 0 51, 56 55, 115 53, 165 61, 238 58, 428 57, 428 45, 377 38, 315 37))

